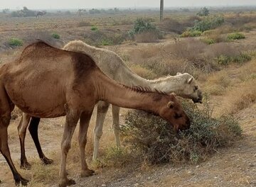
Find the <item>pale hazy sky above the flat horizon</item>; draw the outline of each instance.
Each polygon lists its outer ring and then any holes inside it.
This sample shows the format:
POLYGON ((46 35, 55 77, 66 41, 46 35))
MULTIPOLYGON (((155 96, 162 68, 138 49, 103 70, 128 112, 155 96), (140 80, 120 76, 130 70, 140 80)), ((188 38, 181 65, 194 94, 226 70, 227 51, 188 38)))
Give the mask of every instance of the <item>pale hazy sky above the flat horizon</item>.
MULTIPOLYGON (((112 8, 159 7, 159 0, 0 0, 1 8, 112 8)), ((175 6, 256 6, 256 0, 164 0, 165 7, 175 6)))

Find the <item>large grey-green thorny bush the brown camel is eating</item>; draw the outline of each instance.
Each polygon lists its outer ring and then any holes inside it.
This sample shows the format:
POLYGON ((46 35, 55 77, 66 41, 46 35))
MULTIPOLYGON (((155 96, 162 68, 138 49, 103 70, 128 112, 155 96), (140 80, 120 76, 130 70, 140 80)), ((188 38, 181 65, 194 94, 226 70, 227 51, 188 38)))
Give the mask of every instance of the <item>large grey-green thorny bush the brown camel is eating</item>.
POLYGON ((150 164, 196 163, 242 135, 233 116, 213 118, 208 101, 204 102, 202 109, 185 99, 182 99, 182 104, 191 119, 191 128, 177 134, 158 116, 142 111, 129 112, 122 126, 122 135, 131 152, 150 164))

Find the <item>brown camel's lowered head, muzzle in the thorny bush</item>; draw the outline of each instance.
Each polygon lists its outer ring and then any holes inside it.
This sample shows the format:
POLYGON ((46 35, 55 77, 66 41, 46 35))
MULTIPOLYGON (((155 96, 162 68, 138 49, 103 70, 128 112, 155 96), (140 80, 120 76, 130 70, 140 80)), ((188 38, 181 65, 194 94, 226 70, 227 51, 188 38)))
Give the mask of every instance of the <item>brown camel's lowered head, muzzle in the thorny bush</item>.
POLYGON ((183 111, 175 94, 166 95, 159 102, 161 102, 161 108, 159 110, 160 117, 171 123, 175 132, 186 130, 190 127, 188 115, 183 111))

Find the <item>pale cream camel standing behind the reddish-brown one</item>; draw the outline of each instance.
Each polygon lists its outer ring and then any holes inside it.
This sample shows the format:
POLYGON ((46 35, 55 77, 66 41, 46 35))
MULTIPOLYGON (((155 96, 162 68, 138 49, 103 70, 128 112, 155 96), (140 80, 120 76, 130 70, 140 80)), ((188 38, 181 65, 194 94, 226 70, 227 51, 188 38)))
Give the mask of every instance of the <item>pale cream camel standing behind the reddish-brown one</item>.
MULTIPOLYGON (((168 76, 156 80, 147 80, 139 75, 132 72, 129 67, 124 63, 124 61, 116 53, 100 49, 97 47, 92 47, 87 45, 85 42, 80 40, 75 40, 68 42, 67 45, 63 47, 64 50, 85 52, 90 55, 95 61, 98 67, 105 72, 109 77, 118 81, 121 84, 127 86, 143 86, 154 91, 155 89, 159 91, 164 91, 168 94, 176 93, 178 96, 184 98, 191 98, 194 102, 202 101, 202 92, 199 89, 196 80, 190 74, 178 73, 176 76, 168 76)), ((92 159, 97 159, 100 137, 102 137, 103 123, 105 116, 110 104, 104 101, 100 101, 97 104, 97 120, 94 129, 94 152, 92 159)), ((48 159, 42 152, 40 142, 38 140, 38 123, 39 118, 30 118, 29 115, 23 114, 21 118, 20 125, 18 125, 18 134, 21 140, 21 168, 29 169, 31 164, 27 162, 24 141, 26 136, 26 128, 29 122, 30 128, 28 130, 31 132, 31 136, 35 142, 36 148, 38 150, 39 157, 42 159, 43 163, 50 164, 52 160, 48 159)), ((114 137, 117 142, 117 146, 120 146, 119 140, 119 107, 112 105, 112 127, 114 129, 114 137)))

